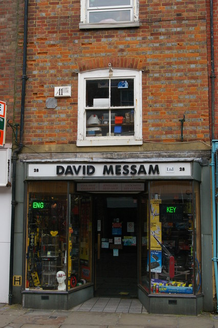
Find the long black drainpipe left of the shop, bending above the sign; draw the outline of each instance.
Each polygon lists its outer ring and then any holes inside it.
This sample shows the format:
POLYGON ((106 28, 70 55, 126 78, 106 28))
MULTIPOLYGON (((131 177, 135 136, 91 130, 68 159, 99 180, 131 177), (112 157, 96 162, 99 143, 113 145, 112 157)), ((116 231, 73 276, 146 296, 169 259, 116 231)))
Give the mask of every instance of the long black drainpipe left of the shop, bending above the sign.
POLYGON ((13 296, 13 259, 14 259, 14 218, 15 206, 17 204, 15 199, 16 193, 16 161, 17 154, 23 148, 23 134, 24 134, 24 109, 25 109, 25 89, 26 89, 26 70, 27 70, 27 19, 28 18, 28 0, 25 0, 24 9, 24 46, 23 46, 23 74, 22 74, 22 89, 21 89, 21 105, 20 105, 20 132, 19 132, 19 146, 13 151, 12 155, 12 200, 11 200, 11 245, 10 245, 10 273, 9 273, 9 298, 8 304, 12 304, 13 296))

